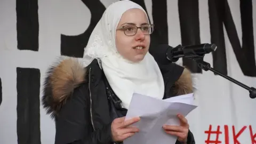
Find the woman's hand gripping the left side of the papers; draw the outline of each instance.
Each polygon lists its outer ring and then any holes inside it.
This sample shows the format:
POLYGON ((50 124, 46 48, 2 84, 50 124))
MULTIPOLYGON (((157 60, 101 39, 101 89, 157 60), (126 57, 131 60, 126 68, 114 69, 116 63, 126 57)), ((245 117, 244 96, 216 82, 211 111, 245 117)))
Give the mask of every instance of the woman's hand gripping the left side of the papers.
POLYGON ((139 132, 137 127, 130 126, 131 124, 140 121, 139 117, 134 117, 127 121, 124 120, 125 117, 116 118, 111 124, 112 139, 116 142, 123 141, 134 135, 136 132, 139 132))

